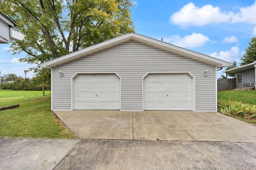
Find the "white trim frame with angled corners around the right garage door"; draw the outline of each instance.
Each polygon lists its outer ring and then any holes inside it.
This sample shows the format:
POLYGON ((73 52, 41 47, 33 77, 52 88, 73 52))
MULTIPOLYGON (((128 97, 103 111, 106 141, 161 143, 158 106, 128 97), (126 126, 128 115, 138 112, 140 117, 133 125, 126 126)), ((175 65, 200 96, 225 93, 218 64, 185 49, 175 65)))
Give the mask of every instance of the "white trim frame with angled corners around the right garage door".
POLYGON ((188 74, 192 78, 192 111, 196 110, 196 78, 191 74, 190 72, 186 71, 180 71, 180 72, 147 72, 143 77, 142 77, 142 111, 144 111, 144 78, 148 74, 188 74))

